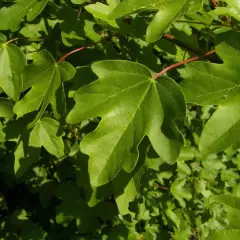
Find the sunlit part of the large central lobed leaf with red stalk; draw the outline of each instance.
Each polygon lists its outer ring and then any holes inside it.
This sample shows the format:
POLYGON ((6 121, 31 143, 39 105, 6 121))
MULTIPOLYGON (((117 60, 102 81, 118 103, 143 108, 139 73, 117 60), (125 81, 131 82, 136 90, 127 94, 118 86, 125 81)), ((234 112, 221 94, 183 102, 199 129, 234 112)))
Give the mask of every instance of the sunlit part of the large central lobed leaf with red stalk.
MULTIPOLYGON (((168 134, 173 137, 173 131, 168 130, 172 123, 164 126, 166 136, 160 131, 162 89, 168 84, 161 86, 161 82, 151 78, 148 68, 128 61, 102 61, 93 64, 92 69, 99 79, 75 92, 76 105, 67 117, 71 124, 102 117, 98 128, 84 137, 80 146, 90 156, 91 184, 104 185, 121 169, 131 172, 138 160, 138 145, 145 135, 155 151, 165 161, 173 163, 176 152, 170 151, 174 144, 168 139, 168 134)), ((182 95, 176 86, 169 88, 168 104, 172 109, 168 119, 172 113, 173 118, 178 115, 172 105, 178 94, 182 95)))

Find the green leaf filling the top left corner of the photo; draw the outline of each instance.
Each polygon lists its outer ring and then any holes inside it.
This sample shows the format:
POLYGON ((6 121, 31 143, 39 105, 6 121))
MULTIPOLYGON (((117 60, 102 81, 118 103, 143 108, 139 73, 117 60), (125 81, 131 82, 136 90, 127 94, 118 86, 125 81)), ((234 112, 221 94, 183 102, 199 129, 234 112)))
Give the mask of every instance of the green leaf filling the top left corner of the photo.
POLYGON ((49 0, 16 0, 6 8, 0 9, 0 30, 16 31, 26 15, 29 21, 36 18, 49 0))

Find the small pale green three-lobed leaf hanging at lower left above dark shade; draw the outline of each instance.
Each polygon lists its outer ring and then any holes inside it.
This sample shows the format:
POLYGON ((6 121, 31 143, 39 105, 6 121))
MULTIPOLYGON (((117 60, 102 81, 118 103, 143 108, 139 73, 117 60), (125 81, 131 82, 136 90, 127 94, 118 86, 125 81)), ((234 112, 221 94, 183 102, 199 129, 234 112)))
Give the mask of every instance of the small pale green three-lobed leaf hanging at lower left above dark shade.
POLYGON ((59 123, 51 118, 42 118, 30 133, 29 146, 44 147, 49 153, 60 158, 64 155, 64 143, 58 136, 59 123))

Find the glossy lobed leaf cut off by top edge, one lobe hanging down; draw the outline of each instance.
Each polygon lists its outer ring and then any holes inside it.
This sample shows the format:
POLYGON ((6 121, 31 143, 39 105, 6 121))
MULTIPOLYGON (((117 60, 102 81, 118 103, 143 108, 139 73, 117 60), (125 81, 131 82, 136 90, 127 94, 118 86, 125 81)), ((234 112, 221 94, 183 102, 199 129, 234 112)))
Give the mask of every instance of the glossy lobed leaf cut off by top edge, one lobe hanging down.
POLYGON ((109 14, 109 18, 119 18, 135 11, 158 11, 146 32, 146 40, 155 42, 178 17, 197 12, 201 7, 200 0, 124 0, 109 14))

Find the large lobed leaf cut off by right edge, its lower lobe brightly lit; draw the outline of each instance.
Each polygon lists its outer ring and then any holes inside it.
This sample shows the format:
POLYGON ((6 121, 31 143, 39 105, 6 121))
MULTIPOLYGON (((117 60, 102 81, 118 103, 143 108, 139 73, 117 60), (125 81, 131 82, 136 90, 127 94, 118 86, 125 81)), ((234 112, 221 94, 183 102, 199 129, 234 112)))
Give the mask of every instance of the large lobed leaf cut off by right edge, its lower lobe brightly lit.
POLYGON ((187 76, 181 86, 187 101, 220 105, 201 136, 200 149, 205 152, 240 146, 239 40, 239 33, 228 32, 219 36, 216 49, 223 64, 195 62, 186 67, 187 76))

